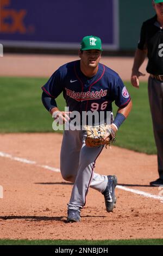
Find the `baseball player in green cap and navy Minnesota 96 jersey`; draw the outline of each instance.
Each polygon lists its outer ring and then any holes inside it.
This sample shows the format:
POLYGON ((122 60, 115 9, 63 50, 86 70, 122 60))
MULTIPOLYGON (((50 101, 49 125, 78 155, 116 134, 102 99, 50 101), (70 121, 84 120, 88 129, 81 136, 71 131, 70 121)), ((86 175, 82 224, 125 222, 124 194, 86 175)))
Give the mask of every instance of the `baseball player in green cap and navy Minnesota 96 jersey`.
MULTIPOLYGON (((79 60, 60 66, 42 87, 42 102, 53 117, 70 121, 68 113, 58 109, 55 99, 64 95, 70 112, 112 111, 112 102, 118 106, 111 128, 116 132, 131 110, 131 98, 120 76, 99 63, 102 42, 97 36, 85 36, 79 50, 79 60)), ((62 178, 74 182, 68 203, 67 222, 79 222, 80 211, 86 203, 89 187, 104 195, 106 211, 116 203, 115 175, 94 173, 95 162, 103 149, 87 147, 84 130, 65 130, 61 145, 60 170, 62 178)), ((106 160, 107 161, 107 160, 106 160)))

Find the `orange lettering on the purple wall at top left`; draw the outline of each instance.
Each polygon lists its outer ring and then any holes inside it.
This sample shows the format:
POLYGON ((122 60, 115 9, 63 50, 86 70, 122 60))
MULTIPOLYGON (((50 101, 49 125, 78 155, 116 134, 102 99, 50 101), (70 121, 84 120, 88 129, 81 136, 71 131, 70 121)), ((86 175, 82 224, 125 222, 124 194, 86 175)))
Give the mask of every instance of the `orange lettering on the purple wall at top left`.
POLYGON ((23 23, 27 11, 24 9, 5 9, 9 7, 10 0, 0 0, 0 33, 26 33, 26 26, 23 23), (9 22, 10 20, 11 22, 9 22))

